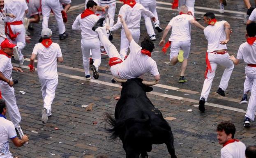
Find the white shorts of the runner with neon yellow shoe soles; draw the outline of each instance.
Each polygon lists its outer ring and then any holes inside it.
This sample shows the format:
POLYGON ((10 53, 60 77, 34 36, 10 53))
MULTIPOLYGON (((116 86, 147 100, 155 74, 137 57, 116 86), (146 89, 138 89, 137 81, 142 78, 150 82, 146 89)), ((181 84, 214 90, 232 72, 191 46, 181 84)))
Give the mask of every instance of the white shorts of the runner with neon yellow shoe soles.
POLYGON ((189 42, 172 41, 171 42, 170 60, 173 57, 178 56, 180 50, 184 51, 183 57, 184 57, 184 59, 187 59, 189 57, 190 46, 191 46, 190 41, 189 42))

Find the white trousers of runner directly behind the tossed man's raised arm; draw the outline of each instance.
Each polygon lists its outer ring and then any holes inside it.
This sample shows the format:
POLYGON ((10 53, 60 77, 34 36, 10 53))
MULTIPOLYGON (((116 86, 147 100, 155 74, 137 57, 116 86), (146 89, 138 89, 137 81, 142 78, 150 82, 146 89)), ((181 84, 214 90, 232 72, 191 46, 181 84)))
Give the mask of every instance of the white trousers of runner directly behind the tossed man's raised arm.
MULTIPOLYGON (((131 28, 129 30, 131 32, 131 36, 134 39, 134 41, 136 43, 138 43, 138 41, 140 39, 140 35, 141 35, 140 29, 139 28, 136 28, 136 29, 131 28)), ((125 59, 125 56, 127 55, 129 46, 130 46, 130 43, 129 43, 128 39, 126 38, 125 30, 122 29, 121 30, 121 44, 120 44, 120 55, 121 55, 122 59, 125 59)))

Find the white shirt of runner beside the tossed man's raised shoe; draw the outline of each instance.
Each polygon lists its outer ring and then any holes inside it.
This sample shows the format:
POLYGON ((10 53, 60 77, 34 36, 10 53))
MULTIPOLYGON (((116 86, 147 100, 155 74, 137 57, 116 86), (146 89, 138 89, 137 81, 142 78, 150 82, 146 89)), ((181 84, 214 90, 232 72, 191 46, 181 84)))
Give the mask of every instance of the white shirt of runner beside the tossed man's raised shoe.
POLYGON ((73 30, 82 30, 83 39, 95 39, 98 38, 98 34, 92 30, 92 26, 99 20, 97 15, 89 15, 85 18, 81 18, 81 14, 76 17, 72 25, 73 30))

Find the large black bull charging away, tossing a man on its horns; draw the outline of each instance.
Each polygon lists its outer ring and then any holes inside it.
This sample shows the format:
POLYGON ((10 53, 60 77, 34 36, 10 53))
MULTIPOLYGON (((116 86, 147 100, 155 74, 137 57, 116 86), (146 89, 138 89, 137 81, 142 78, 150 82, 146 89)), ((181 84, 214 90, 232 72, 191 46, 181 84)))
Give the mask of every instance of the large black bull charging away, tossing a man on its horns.
POLYGON ((112 128, 113 140, 120 137, 126 158, 147 158, 152 144, 165 143, 171 158, 175 156, 173 133, 163 115, 148 99, 146 92, 152 87, 143 85, 142 79, 129 79, 122 83, 121 96, 115 107, 115 119, 106 114, 106 121, 112 128))

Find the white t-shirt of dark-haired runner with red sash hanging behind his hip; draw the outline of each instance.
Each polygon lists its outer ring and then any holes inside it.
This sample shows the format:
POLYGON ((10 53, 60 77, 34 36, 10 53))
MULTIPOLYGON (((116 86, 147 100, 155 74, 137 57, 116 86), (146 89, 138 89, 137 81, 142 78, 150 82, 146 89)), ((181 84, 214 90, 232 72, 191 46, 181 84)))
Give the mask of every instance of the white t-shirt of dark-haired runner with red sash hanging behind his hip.
POLYGON ((203 30, 205 38, 208 40, 208 53, 213 52, 214 50, 228 49, 226 44, 220 44, 221 41, 226 40, 224 23, 227 22, 217 21, 215 25, 208 25, 203 30))

